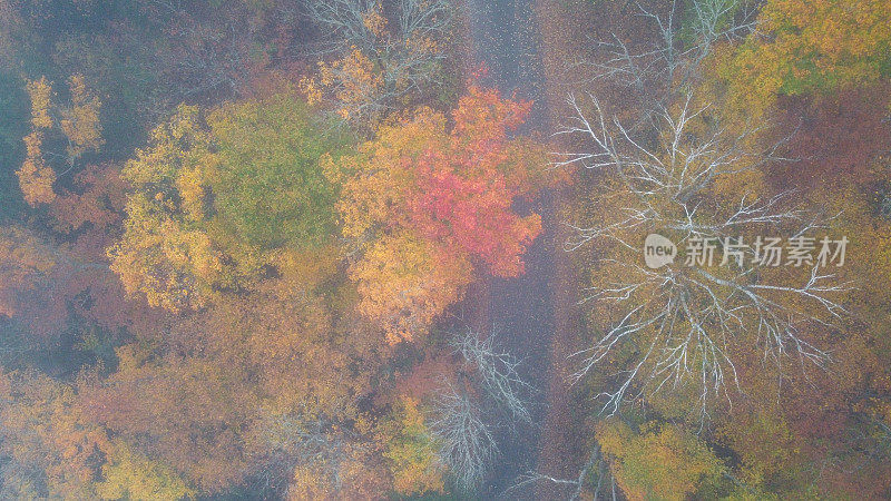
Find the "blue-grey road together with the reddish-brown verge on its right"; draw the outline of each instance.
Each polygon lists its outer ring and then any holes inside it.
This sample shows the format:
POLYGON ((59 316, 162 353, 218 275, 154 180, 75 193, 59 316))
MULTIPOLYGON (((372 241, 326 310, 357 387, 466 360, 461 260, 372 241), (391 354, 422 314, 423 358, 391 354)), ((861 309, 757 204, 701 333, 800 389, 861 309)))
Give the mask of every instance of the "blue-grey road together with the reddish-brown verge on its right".
MULTIPOLYGON (((591 40, 616 33, 633 43, 648 38, 630 3, 596 6, 590 0, 467 0, 469 70, 486 69, 481 84, 505 95, 532 100, 521 132, 554 143, 554 131, 567 117, 567 96, 600 91, 576 62, 591 57, 591 40)), ((616 97, 621 104, 621 97, 616 97)), ((588 179, 590 181, 590 179, 588 179)), ((518 475, 530 470, 575 480, 588 456, 579 399, 572 397, 567 355, 577 346, 582 312, 578 307, 578 256, 564 250, 567 239, 561 207, 584 188, 557 186, 539 200, 519 207, 542 217, 544 233, 525 255, 526 273, 517 278, 489 278, 471 287, 466 310, 471 326, 493 332, 503 347, 523 358, 521 374, 537 389, 536 422, 529 430, 506 431, 495 480, 483 497, 505 495, 518 475)), ((584 256, 582 256, 582 259, 584 256)), ((510 498, 566 499, 572 487, 540 484, 510 498)))

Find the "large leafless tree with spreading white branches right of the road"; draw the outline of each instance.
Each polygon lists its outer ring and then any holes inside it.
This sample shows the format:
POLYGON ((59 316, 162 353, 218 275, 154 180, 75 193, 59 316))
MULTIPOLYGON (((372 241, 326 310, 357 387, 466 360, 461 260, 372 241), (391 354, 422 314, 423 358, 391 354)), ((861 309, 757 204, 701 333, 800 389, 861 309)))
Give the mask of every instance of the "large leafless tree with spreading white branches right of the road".
POLYGON ((693 383, 705 413, 706 399, 724 387, 727 376, 737 382, 738 344, 757 343, 763 357, 777 365, 795 356, 823 366, 830 355, 809 342, 806 333, 841 317, 841 294, 849 284, 840 284, 813 259, 799 263, 804 267, 777 267, 773 256, 765 259, 756 238, 782 232, 792 240, 825 228, 829 218, 795 203, 791 191, 765 197, 740 181, 784 160, 777 154, 784 140, 758 147, 763 126, 734 131, 719 121, 719 114, 709 112, 711 105, 694 105, 689 94, 673 110, 660 109, 649 134, 629 132, 606 116, 595 97, 589 110, 575 99, 570 105, 576 116, 558 135, 587 146, 559 154, 557 164, 597 169, 610 187, 600 199, 603 216, 596 224, 569 225, 574 236, 568 250, 587 244, 607 249, 597 264, 601 279, 582 302, 610 322, 590 346, 571 355, 580 362, 574 380, 633 343, 638 355, 616 374, 616 387, 600 394, 605 409, 615 413, 634 389, 631 396, 638 396, 693 383), (718 180, 734 179, 741 184, 735 203, 715 189, 718 180), (712 250, 724 250, 726 266, 646 267, 640 243, 653 232, 672 235, 691 252, 693 244, 712 243, 712 250), (757 245, 744 246, 744 238, 757 245), (727 259, 731 247, 738 253, 727 259))

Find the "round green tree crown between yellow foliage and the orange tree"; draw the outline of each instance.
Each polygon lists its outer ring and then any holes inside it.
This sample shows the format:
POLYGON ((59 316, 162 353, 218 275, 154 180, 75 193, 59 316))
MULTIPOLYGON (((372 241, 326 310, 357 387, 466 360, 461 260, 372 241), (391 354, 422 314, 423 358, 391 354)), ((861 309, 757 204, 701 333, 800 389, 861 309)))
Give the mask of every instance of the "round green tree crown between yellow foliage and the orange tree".
POLYGON ((225 224, 261 248, 329 239, 337 191, 319 158, 344 144, 329 124, 292 91, 224 106, 207 121, 219 158, 210 185, 225 224))

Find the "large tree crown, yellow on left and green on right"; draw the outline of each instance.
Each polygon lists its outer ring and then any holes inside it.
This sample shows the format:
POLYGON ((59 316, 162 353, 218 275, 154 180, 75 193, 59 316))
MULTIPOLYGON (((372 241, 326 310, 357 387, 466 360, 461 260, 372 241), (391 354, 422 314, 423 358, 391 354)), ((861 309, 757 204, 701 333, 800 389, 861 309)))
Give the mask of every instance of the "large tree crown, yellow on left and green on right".
POLYGON ((172 311, 199 308, 273 268, 327 254, 312 262, 324 268, 336 257, 336 187, 320 158, 345 140, 296 92, 274 90, 206 119, 180 106, 127 163, 125 232, 109 256, 129 293, 172 311))

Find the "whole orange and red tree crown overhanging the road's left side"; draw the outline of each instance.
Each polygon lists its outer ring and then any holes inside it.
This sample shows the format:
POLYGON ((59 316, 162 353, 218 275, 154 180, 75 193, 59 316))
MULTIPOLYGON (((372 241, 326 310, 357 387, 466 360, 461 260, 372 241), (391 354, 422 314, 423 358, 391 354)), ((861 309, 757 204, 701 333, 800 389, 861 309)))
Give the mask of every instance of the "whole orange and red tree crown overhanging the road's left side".
POLYGON ((391 119, 355 155, 327 161, 342 185, 337 212, 360 310, 391 343, 422 335, 458 301, 476 266, 510 277, 541 232, 513 210, 544 184, 544 150, 510 138, 531 102, 471 84, 452 112, 429 108, 391 119))

